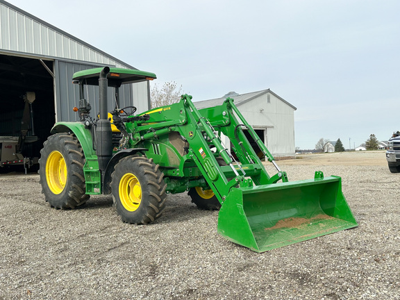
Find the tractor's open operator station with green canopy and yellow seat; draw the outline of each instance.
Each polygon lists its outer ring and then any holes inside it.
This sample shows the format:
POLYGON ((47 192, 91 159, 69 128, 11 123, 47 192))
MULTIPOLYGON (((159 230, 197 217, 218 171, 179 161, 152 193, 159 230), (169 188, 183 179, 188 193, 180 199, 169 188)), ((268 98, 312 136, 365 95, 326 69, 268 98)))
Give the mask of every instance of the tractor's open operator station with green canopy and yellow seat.
POLYGON ((119 88, 123 84, 139 83, 157 78, 156 74, 144 72, 138 69, 122 69, 116 67, 100 67, 76 72, 72 77, 73 83, 79 85, 79 107, 74 111, 79 113, 79 119, 85 124, 85 128, 92 131, 96 144, 96 154, 99 161, 99 169, 106 169, 110 158, 115 151, 129 147, 129 137, 124 122, 146 119, 147 115, 133 117, 135 106, 120 107, 119 88), (99 114, 93 120, 89 113, 90 103, 85 99, 84 85, 99 86, 99 114), (108 111, 108 87, 115 88, 115 108, 108 111), (117 149, 117 150, 115 150, 117 149))

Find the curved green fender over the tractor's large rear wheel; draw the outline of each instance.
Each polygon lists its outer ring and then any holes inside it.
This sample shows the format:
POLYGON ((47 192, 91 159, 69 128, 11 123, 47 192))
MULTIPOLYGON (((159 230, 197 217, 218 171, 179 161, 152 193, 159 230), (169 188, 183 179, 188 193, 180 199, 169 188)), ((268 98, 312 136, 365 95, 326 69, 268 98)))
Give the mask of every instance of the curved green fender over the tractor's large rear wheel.
POLYGON ((90 129, 85 128, 85 125, 81 122, 57 122, 51 133, 67 133, 73 132, 76 138, 81 143, 85 158, 88 159, 91 156, 96 155, 96 151, 93 149, 93 137, 90 129))

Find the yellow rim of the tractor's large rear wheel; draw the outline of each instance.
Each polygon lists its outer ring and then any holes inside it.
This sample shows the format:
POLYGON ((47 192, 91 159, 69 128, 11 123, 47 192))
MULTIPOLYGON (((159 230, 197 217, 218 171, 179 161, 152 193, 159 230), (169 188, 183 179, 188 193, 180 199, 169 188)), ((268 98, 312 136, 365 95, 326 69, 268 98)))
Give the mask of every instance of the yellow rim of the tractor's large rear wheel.
POLYGON ((60 194, 67 183, 67 165, 63 154, 58 151, 50 153, 46 161, 46 180, 53 194, 60 194))

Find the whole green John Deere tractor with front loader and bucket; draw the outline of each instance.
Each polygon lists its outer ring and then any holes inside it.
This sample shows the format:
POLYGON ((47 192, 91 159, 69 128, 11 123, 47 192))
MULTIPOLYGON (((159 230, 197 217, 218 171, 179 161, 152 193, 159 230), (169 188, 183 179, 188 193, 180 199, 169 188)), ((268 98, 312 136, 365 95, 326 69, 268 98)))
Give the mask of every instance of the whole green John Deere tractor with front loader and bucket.
POLYGON ((154 78, 109 67, 74 74, 80 122, 56 123, 41 151, 40 183, 52 207, 76 208, 91 194, 112 194, 123 222, 147 224, 162 215, 167 194, 188 192, 199 208, 219 210, 220 235, 257 252, 358 226, 341 178, 315 172, 313 179, 288 181, 233 99, 197 110, 185 94, 178 103, 144 113, 119 108, 122 84, 154 78), (84 85, 99 85, 100 113, 94 119, 84 85), (111 112, 108 87, 116 95, 111 112), (267 174, 244 130, 276 174, 267 174))

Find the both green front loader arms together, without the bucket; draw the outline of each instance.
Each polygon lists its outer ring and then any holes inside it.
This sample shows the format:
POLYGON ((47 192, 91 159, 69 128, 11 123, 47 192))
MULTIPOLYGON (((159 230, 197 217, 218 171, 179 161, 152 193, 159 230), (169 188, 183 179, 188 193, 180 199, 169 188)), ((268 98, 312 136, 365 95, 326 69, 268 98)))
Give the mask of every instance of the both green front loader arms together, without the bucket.
MULTIPOLYGON (((263 163, 242 132, 241 126, 247 122, 240 114, 237 114, 240 118, 238 121, 234 109, 238 111, 233 100, 230 99, 225 101, 222 106, 197 110, 192 103, 192 97, 185 94, 179 103, 142 113, 142 115, 148 115, 149 119, 128 122, 126 126, 128 131, 133 133, 133 147, 139 147, 146 141, 158 140, 157 147, 163 147, 165 151, 169 152, 174 149, 167 147, 167 135, 178 132, 189 144, 188 153, 179 158, 180 163, 177 170, 165 169, 165 174, 185 176, 187 175, 185 163, 192 161, 199 169, 208 188, 213 190, 219 202, 223 203, 233 187, 249 186, 253 183, 256 185, 271 184, 280 179, 288 181, 285 172, 278 172, 272 177, 267 174, 263 163), (221 133, 228 136, 233 142, 238 161, 222 144, 221 133), (212 151, 211 148, 215 148, 215 151, 212 151), (222 158, 226 166, 220 166, 217 157, 222 158)), ((248 124, 247 126, 249 130, 253 130, 248 124)), ((256 135, 256 133, 253 134, 256 135)), ((147 147, 151 148, 149 144, 147 147)), ((273 160, 265 146, 264 148, 265 153, 268 153, 269 158, 273 160)), ((151 155, 148 153, 148 156, 151 155)), ((178 154, 176 153, 176 155, 178 154)), ((157 158, 154 157, 154 159, 157 158)), ((163 167, 171 166, 171 161, 165 162, 161 159, 159 163, 163 167)), ((192 183, 186 183, 186 188, 192 186, 192 183)), ((174 189, 178 191, 175 187, 174 189)))

